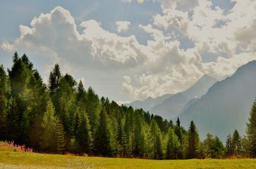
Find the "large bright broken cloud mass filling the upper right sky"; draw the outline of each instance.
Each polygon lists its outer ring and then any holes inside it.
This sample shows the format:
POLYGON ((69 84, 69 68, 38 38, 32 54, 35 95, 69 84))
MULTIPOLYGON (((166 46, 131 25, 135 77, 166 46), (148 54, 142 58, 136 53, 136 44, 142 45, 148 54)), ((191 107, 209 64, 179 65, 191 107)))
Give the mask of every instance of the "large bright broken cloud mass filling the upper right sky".
POLYGON ((218 6, 212 8, 211 1, 189 3, 162 1, 163 14, 154 15, 152 24, 140 26, 153 38, 147 47, 154 59, 149 59, 150 69, 140 75, 140 86, 132 91, 136 99, 183 91, 204 74, 232 75, 256 59, 255 1, 236 1, 228 13, 218 6), (180 47, 180 37, 192 41, 194 47, 180 47), (202 62, 203 52, 219 56, 216 61, 202 62))

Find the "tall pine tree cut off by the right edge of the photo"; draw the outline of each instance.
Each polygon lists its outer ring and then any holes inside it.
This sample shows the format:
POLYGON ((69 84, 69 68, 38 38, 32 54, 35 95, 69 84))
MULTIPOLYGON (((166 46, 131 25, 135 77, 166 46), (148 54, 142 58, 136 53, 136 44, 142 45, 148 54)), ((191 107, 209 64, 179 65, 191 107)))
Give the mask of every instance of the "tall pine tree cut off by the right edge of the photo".
POLYGON ((252 158, 256 158, 256 100, 252 105, 249 122, 247 123, 246 133, 250 142, 250 154, 252 158))

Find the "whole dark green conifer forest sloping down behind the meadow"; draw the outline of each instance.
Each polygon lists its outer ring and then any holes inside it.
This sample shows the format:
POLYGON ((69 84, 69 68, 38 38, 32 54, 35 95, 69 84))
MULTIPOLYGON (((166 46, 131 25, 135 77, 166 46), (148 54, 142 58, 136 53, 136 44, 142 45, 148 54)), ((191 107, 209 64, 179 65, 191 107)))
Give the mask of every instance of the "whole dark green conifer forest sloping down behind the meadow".
POLYGON ((255 157, 256 103, 247 134, 228 135, 224 146, 207 134, 201 142, 189 129, 142 109, 120 106, 62 75, 56 64, 44 84, 26 54, 13 55, 8 73, 0 66, 0 140, 13 140, 38 152, 121 158, 190 159, 255 157))

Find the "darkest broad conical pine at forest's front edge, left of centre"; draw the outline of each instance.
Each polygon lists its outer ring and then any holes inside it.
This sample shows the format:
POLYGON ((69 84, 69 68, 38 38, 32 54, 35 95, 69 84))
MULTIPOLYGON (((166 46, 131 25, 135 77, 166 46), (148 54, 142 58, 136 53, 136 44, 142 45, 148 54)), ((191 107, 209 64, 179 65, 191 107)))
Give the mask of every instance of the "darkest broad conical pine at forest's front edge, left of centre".
POLYGON ((108 124, 108 114, 103 109, 100 111, 99 126, 97 128, 97 135, 95 135, 94 140, 95 154, 100 156, 113 155, 113 147, 111 145, 111 131, 108 124))

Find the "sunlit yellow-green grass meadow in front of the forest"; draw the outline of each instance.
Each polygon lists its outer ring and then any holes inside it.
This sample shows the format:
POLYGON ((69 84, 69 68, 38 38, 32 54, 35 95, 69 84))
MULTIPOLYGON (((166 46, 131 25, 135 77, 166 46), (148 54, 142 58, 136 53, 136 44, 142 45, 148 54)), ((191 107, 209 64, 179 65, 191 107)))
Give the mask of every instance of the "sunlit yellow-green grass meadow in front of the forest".
POLYGON ((256 168, 256 159, 150 160, 92 158, 0 149, 0 168, 256 168))

